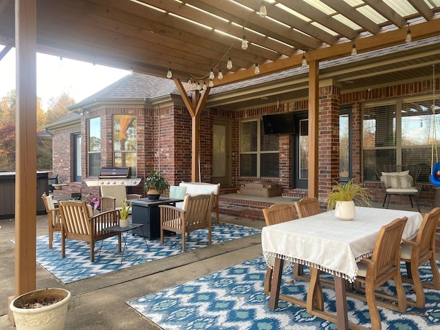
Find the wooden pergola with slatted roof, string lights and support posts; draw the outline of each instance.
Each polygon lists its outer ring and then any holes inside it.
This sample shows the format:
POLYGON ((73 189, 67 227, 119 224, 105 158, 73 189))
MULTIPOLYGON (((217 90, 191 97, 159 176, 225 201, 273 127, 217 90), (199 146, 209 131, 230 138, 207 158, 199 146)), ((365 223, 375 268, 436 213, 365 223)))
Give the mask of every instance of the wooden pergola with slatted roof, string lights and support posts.
MULTIPOLYGON (((439 12, 440 0, 3 0, 0 61, 17 48, 16 296, 36 285, 36 52, 173 78, 192 117, 193 181, 194 137, 210 89, 308 65, 314 196, 319 64, 438 36, 439 12)), ((353 66, 340 79, 429 76, 426 63, 440 62, 436 48, 380 64, 369 59, 362 72, 353 66)))

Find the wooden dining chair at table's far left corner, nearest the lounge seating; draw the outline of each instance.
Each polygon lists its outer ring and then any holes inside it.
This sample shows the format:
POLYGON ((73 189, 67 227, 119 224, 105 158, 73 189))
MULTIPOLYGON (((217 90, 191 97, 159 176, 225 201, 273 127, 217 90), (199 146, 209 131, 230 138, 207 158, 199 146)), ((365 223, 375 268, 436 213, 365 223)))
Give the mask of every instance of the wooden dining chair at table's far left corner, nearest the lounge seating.
MULTIPOLYGON (((263 208, 263 215, 266 221, 266 225, 275 225, 276 223, 282 223, 296 219, 295 209, 292 204, 289 203, 276 203, 269 208, 263 208)), ((295 263, 294 267, 297 264, 295 263)), ((270 293, 270 286, 272 284, 272 267, 267 267, 266 275, 264 278, 264 292, 270 293)))

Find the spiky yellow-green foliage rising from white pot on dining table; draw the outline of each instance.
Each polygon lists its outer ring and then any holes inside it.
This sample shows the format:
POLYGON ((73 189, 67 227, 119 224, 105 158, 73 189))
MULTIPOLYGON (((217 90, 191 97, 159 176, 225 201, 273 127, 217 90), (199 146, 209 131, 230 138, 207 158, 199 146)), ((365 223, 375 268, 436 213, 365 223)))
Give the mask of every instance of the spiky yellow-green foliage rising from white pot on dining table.
POLYGON ((348 182, 340 182, 336 186, 331 187, 327 197, 327 210, 333 210, 337 201, 354 201, 360 205, 371 206, 371 198, 372 196, 368 188, 355 184, 353 179, 351 179, 348 182))

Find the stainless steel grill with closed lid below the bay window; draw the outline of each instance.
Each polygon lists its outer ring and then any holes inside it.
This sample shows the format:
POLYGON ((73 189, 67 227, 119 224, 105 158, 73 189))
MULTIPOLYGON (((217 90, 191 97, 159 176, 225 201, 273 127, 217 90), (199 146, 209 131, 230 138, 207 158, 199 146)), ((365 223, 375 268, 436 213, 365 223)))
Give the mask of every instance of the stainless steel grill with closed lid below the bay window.
POLYGON ((98 179, 85 179, 89 187, 122 185, 134 187, 142 178, 131 177, 131 167, 103 167, 98 179))

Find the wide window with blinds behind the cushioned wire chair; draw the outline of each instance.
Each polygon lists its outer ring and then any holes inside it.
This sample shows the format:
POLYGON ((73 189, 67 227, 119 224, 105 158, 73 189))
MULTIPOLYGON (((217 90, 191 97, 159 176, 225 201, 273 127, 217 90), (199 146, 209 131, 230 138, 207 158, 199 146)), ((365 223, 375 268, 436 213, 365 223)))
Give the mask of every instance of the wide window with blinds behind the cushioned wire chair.
POLYGON ((439 107, 432 113, 432 100, 428 99, 404 99, 365 107, 364 180, 377 180, 378 164, 419 164, 422 171, 418 181, 428 182, 432 142, 437 145, 434 131, 440 129, 439 113, 439 107))

